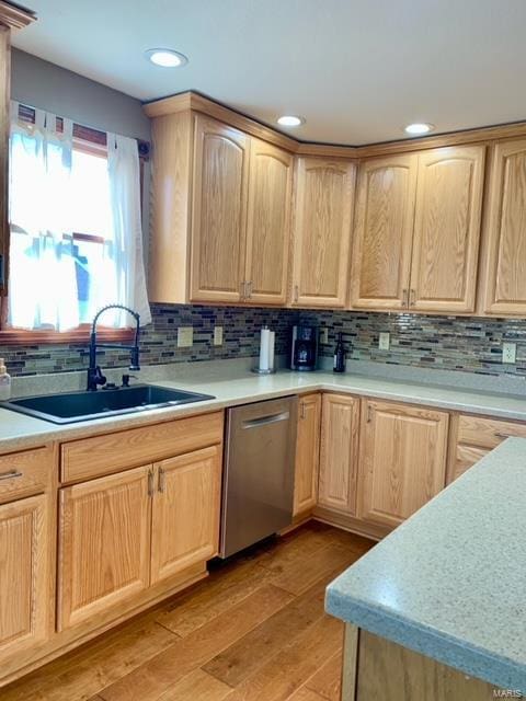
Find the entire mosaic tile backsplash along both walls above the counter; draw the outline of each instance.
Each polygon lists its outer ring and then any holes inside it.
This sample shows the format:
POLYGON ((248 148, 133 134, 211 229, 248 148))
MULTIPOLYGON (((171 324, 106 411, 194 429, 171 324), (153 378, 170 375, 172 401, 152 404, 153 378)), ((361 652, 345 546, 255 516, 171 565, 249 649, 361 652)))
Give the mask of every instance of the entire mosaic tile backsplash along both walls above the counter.
MULTIPOLYGON (((141 336, 141 364, 158 365, 255 357, 263 325, 276 331, 276 353, 287 353, 295 323, 327 326, 329 343, 321 355, 332 356, 342 332, 347 357, 413 367, 464 370, 484 375, 526 375, 526 320, 426 317, 346 311, 295 311, 236 307, 152 304, 152 323, 141 336), (222 346, 214 346, 214 326, 224 327, 222 346), (178 327, 194 327, 192 348, 178 348, 178 327), (381 331, 390 333, 390 349, 378 349, 381 331), (502 343, 517 344, 517 363, 501 363, 502 343)), ((65 372, 88 367, 88 346, 78 344, 0 346, 13 376, 65 372)), ((105 350, 102 367, 126 367, 127 352, 105 350)))

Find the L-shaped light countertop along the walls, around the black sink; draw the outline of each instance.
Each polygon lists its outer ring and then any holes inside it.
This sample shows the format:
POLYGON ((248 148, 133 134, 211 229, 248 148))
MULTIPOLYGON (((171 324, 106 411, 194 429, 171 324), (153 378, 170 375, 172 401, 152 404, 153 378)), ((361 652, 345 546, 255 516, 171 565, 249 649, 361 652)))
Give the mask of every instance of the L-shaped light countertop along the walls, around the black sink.
POLYGON ((248 369, 240 370, 238 365, 228 361, 219 361, 206 367, 205 364, 199 363, 190 365, 192 367, 185 367, 184 371, 180 366, 174 366, 170 379, 153 380, 153 383, 213 394, 216 397, 215 400, 68 425, 52 424, 1 409, 0 451, 31 448, 50 440, 72 440, 236 404, 319 390, 350 392, 377 399, 526 421, 526 397, 453 389, 350 372, 334 375, 327 371, 301 374, 283 370, 276 375, 260 377, 248 369))

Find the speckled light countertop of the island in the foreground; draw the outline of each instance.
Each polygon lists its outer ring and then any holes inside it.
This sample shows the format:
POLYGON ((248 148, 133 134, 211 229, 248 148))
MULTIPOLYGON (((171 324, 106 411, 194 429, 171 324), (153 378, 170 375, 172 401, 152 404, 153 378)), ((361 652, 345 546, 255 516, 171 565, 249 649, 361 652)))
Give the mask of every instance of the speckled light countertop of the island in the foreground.
POLYGON ((508 438, 339 576, 333 616, 526 692, 526 439, 508 438))

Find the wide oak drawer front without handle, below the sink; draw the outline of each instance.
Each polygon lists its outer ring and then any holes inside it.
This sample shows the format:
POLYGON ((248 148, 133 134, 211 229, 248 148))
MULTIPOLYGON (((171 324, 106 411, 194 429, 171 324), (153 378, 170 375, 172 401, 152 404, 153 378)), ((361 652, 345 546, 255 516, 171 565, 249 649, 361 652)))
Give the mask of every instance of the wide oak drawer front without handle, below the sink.
POLYGON ((72 440, 60 446, 60 479, 76 482, 222 441, 222 412, 72 440))

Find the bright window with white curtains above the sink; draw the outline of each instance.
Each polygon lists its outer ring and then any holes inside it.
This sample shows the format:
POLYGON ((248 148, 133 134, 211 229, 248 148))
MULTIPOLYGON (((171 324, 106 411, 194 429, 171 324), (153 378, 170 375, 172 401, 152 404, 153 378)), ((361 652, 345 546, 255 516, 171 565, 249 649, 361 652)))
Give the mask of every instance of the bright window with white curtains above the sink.
MULTIPOLYGON (((11 131, 1 342, 80 340, 111 303, 147 323, 137 142, 32 112, 19 108, 11 131)), ((103 323, 121 337, 129 320, 108 312, 103 323)))

